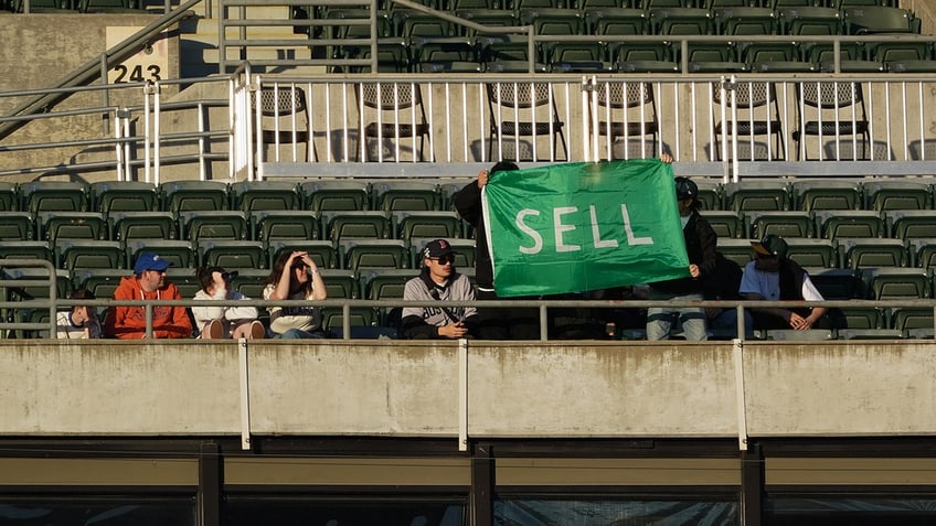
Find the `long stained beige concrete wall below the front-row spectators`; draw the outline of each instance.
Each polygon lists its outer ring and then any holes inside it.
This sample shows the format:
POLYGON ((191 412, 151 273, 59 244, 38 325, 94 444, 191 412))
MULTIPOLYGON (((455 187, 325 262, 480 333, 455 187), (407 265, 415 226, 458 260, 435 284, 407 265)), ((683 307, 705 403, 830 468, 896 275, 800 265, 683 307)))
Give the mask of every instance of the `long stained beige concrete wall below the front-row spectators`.
MULTIPOLYGON (((936 432, 933 342, 470 342, 469 437, 936 432)), ((251 343, 251 431, 451 437, 456 342, 251 343)), ((0 434, 233 434, 236 342, 0 341, 0 434)))

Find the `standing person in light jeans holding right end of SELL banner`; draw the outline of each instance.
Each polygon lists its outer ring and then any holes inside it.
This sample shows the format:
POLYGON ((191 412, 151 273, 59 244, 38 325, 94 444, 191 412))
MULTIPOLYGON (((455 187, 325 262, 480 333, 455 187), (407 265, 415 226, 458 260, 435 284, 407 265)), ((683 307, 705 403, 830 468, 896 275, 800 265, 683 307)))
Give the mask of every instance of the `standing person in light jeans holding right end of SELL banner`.
MULTIPOLYGON (((676 178, 676 197, 689 277, 650 283, 651 300, 702 300, 703 279, 715 271, 717 234, 698 211, 699 187, 688 178, 676 178)), ((647 309, 647 340, 668 340, 677 321, 685 340, 708 340, 705 311, 699 307, 651 307, 647 309)))

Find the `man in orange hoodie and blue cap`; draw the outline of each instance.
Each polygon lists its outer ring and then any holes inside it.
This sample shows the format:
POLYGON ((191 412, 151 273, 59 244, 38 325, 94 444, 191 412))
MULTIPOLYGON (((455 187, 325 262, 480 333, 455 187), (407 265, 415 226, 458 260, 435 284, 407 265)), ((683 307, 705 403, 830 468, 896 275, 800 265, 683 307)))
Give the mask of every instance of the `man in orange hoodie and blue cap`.
MULTIPOLYGON (((172 265, 153 253, 142 253, 134 265, 134 276, 120 279, 115 300, 181 300, 174 283, 166 281, 166 269, 172 265)), ((146 309, 116 305, 104 323, 104 333, 121 340, 146 337, 146 309)), ((155 305, 152 337, 190 337, 192 321, 184 307, 155 305)))

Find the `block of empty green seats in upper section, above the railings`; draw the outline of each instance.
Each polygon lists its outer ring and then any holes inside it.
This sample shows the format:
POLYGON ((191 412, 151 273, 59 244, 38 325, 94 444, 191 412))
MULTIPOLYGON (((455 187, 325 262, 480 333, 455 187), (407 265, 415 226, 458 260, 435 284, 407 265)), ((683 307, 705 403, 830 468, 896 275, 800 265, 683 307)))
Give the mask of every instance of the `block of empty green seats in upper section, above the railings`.
MULTIPOLYGON (((758 72, 763 64, 795 63, 797 71, 829 71, 830 43, 809 42, 810 35, 918 34, 921 21, 911 10, 882 4, 755 7, 744 1, 716 6, 683 6, 659 1, 640 8, 618 6, 515 9, 454 9, 465 20, 494 26, 533 28, 540 40, 530 56, 522 34, 482 34, 460 24, 414 10, 376 12, 377 63, 383 72, 678 72, 678 42, 631 43, 620 40, 568 42, 568 35, 790 35, 781 44, 690 43, 688 62, 693 71, 758 72), (554 41, 549 40, 555 36, 554 41)), ((611 3, 610 1, 607 3, 611 3)), ((341 41, 330 45, 336 58, 370 57, 370 11, 325 9, 316 18, 327 22, 312 26, 313 36, 341 41), (352 24, 350 21, 368 21, 352 24), (332 25, 333 24, 333 25, 332 25), (357 39, 357 41, 355 41, 357 39)), ((930 42, 845 42, 841 58, 848 71, 915 72, 936 69, 930 42), (874 66, 876 64, 876 67, 874 66)), ((786 67, 790 67, 787 65, 786 67)), ((353 66, 352 72, 365 66, 353 66)), ((343 71, 338 67, 336 71, 343 71)))

